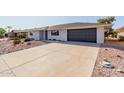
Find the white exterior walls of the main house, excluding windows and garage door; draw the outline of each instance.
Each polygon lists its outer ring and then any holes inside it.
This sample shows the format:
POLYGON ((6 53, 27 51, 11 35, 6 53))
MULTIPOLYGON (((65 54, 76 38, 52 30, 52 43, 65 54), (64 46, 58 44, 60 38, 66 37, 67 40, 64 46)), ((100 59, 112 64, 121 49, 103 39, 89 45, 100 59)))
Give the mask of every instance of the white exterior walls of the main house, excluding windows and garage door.
MULTIPOLYGON (((30 35, 30 32, 28 32, 28 37, 29 38, 34 38, 35 40, 45 40, 45 32, 43 31, 43 35, 39 31, 31 32, 33 35, 30 35), (42 37, 41 37, 42 36, 42 37)), ((124 34, 124 33, 123 33, 124 34)), ((51 31, 47 32, 47 38, 48 40, 55 39, 55 40, 61 40, 61 41, 67 41, 67 30, 59 30, 59 35, 58 36, 52 36, 51 31)), ((104 28, 103 27, 98 27, 97 28, 97 43, 104 43, 104 28)))

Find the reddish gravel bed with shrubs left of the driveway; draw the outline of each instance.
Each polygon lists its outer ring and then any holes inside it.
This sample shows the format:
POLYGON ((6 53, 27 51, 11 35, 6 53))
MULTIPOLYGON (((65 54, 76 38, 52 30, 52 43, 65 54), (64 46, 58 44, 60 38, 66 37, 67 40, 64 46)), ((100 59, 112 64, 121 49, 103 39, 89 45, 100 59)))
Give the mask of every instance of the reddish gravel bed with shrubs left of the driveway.
POLYGON ((47 44, 47 42, 43 41, 30 41, 29 42, 23 42, 21 44, 18 44, 16 46, 13 45, 13 40, 5 40, 5 41, 0 41, 0 55, 31 48, 31 47, 36 47, 40 45, 47 44))

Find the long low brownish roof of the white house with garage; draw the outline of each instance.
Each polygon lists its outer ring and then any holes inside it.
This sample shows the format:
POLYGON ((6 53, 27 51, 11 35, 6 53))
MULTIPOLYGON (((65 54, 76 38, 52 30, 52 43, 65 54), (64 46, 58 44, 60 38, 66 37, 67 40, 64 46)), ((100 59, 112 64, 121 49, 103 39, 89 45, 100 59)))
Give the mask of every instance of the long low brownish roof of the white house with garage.
POLYGON ((79 28, 95 28, 95 27, 106 27, 112 26, 111 24, 105 23, 67 23, 67 24, 59 24, 47 27, 40 28, 32 28, 32 29, 24 29, 24 30, 14 30, 13 32, 30 32, 30 31, 42 31, 42 30, 60 30, 60 29, 79 29, 79 28))

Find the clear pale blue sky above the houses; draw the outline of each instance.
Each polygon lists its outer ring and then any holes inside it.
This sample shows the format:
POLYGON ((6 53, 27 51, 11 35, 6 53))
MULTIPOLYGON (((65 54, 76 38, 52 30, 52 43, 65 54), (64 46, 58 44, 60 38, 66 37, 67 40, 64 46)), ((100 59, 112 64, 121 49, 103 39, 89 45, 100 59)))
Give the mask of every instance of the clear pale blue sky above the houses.
MULTIPOLYGON (((104 16, 0 16, 0 27, 17 29, 43 27, 71 22, 96 22, 104 16)), ((113 28, 124 26, 124 16, 116 16, 113 28)))

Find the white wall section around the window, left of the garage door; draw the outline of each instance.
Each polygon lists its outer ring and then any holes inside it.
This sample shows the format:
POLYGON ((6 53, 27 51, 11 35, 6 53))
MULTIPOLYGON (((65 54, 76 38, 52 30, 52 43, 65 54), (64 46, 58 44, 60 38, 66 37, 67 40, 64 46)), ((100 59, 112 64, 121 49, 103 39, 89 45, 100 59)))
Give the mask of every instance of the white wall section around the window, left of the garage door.
POLYGON ((67 30, 59 30, 59 36, 52 36, 51 31, 48 31, 48 40, 49 39, 67 41, 67 30))

